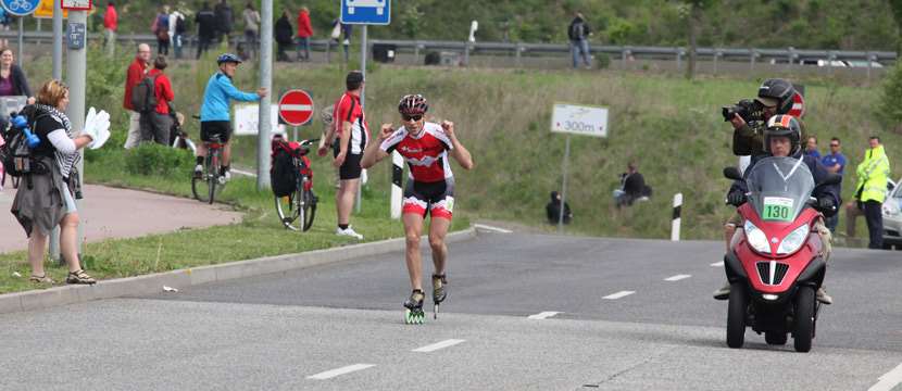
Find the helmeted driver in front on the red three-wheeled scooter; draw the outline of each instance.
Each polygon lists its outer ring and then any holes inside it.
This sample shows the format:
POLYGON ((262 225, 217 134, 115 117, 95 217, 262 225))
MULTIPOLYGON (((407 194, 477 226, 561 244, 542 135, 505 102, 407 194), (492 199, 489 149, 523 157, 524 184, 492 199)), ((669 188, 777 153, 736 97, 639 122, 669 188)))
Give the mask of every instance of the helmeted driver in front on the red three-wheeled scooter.
MULTIPOLYGON (((775 115, 767 121, 767 127, 764 131, 764 146, 766 148, 766 154, 762 157, 791 156, 800 159, 805 163, 805 165, 807 165, 814 176, 814 181, 816 184, 823 182, 829 172, 827 172, 827 168, 820 163, 820 161, 802 153, 801 139, 802 131, 798 119, 791 115, 775 115)), ((756 162, 757 161, 752 161, 749 168, 746 169, 747 174, 756 162)), ((748 188, 744 180, 735 181, 732 187, 730 187, 729 193, 727 194, 727 203, 734 206, 743 204, 747 201, 747 192, 748 188)), ((836 205, 838 204, 839 195, 836 193, 835 187, 817 187, 815 188, 812 197, 817 199, 816 209, 823 212, 826 216, 831 216, 836 213, 836 205)), ((830 240, 832 239, 830 230, 827 229, 823 218, 818 218, 814 224, 814 230, 817 231, 820 236, 820 241, 824 243, 820 255, 824 257, 824 262, 826 263, 830 257, 830 240)), ((742 235, 742 228, 737 228, 730 242, 730 249, 732 249, 742 235)), ((726 300, 729 298, 729 288, 730 286, 727 283, 725 288, 722 288, 715 292, 714 298, 718 300, 726 300)), ((832 303, 832 298, 827 294, 823 286, 817 290, 817 300, 824 304, 832 303)))

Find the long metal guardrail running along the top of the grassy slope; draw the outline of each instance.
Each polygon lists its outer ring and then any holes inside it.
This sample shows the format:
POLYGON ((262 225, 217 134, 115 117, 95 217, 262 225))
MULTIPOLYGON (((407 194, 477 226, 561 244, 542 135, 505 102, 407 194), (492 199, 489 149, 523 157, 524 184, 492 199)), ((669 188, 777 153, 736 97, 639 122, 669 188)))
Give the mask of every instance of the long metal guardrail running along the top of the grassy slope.
MULTIPOLYGON (((14 41, 18 37, 16 31, 0 31, 0 38, 14 41)), ((36 41, 48 41, 53 39, 51 31, 26 31, 23 35, 26 43, 36 41)), ((89 34, 89 41, 102 40, 102 34, 89 34)), ((150 34, 118 35, 120 42, 146 42, 153 43, 156 38, 150 34)), ((197 43, 196 36, 183 38, 187 47, 197 43)), ((243 40, 241 36, 233 36, 233 43, 243 40)), ((524 42, 466 42, 466 41, 440 41, 440 40, 401 40, 401 39, 371 39, 368 46, 389 45, 394 46, 397 51, 414 53, 419 55, 429 51, 455 51, 466 59, 471 53, 536 56, 536 55, 569 55, 568 43, 524 43, 524 42)), ((317 50, 329 50, 336 47, 335 41, 328 39, 313 39, 311 47, 317 50)), ((631 59, 655 59, 675 60, 682 62, 688 53, 684 47, 646 47, 646 46, 606 46, 591 45, 594 53, 605 53, 612 60, 627 61, 631 59)), ((898 60, 895 52, 889 51, 848 51, 848 50, 807 50, 807 49, 731 49, 731 48, 698 48, 697 55, 711 61, 747 61, 753 67, 756 62, 776 63, 799 63, 801 61, 827 60, 828 66, 831 61, 867 61, 881 64, 894 63, 898 60)), ((464 60, 466 62, 466 60, 464 60)))

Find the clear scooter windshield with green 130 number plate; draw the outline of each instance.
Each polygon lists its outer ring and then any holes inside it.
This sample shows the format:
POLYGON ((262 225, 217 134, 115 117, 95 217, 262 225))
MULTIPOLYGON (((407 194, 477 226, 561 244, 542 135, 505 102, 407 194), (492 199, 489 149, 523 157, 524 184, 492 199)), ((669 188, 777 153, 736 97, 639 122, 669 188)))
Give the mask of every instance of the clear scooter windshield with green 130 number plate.
POLYGON ((789 223, 805 207, 814 177, 800 159, 765 157, 746 178, 749 201, 765 222, 789 223))

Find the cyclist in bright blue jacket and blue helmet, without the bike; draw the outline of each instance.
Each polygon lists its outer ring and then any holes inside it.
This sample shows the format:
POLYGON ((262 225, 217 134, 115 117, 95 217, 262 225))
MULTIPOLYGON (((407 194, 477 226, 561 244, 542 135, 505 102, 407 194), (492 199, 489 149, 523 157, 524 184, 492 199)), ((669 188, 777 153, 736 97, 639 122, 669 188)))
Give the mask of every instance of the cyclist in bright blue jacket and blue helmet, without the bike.
MULTIPOLYGON (((231 157, 231 118, 229 103, 230 100, 242 102, 256 102, 266 98, 266 89, 260 88, 256 93, 243 92, 231 84, 235 77, 235 71, 241 59, 231 53, 225 53, 216 59, 216 64, 220 65, 220 71, 210 77, 206 83, 206 89, 203 91, 203 105, 200 108, 200 138, 203 141, 212 140, 213 136, 218 136, 222 142, 225 142, 223 149, 223 173, 222 175, 228 180, 231 178, 229 173, 229 160, 231 157)), ((203 160, 206 157, 206 147, 202 143, 198 146, 197 165, 195 166, 195 176, 200 177, 203 171, 203 160)))

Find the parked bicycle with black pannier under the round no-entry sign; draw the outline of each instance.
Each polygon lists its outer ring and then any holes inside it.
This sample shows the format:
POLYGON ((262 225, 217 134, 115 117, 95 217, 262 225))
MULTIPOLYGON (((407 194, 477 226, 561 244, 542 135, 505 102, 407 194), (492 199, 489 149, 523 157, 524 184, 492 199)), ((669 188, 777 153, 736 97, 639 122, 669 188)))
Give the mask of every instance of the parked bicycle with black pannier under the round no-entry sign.
POLYGON ((302 140, 292 146, 284 139, 273 140, 273 156, 277 149, 281 149, 291 156, 291 166, 295 178, 295 186, 291 192, 285 197, 275 195, 276 213, 286 229, 306 231, 313 225, 316 216, 316 203, 318 198, 313 193, 313 168, 310 165, 310 148, 318 139, 302 140))

